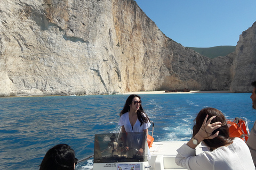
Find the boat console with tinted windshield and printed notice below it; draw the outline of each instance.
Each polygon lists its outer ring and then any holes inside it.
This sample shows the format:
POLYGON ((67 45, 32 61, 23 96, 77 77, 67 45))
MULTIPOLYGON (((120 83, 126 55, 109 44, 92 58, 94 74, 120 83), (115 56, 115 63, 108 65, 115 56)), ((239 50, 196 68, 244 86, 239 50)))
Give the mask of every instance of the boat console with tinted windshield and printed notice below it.
POLYGON ((149 170, 146 139, 145 132, 95 134, 93 170, 149 170))

